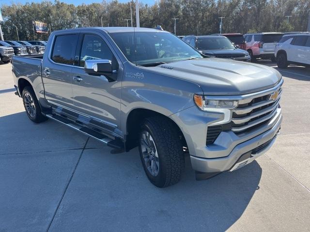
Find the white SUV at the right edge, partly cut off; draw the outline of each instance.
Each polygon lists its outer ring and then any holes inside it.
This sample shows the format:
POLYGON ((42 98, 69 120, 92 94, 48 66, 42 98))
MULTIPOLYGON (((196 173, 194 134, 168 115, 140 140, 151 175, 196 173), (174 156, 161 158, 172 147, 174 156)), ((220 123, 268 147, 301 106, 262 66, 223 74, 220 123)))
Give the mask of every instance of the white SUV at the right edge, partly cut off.
POLYGON ((275 57, 282 69, 289 64, 310 65, 310 34, 284 35, 276 45, 275 57))

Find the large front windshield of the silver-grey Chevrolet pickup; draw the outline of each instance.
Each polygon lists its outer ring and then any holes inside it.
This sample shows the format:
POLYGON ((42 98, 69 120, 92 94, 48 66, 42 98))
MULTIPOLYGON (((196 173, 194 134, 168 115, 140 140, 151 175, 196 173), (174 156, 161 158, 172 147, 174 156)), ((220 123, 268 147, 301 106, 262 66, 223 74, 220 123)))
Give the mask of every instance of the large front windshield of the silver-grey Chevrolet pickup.
POLYGON ((110 36, 124 56, 139 65, 202 58, 198 51, 167 32, 114 32, 110 36))

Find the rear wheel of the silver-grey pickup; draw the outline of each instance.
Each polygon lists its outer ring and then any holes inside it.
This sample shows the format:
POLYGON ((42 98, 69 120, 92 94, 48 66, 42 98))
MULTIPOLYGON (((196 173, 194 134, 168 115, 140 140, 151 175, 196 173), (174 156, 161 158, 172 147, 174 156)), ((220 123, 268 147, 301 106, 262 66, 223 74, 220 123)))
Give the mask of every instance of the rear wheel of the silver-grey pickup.
POLYGON ((26 114, 31 121, 39 123, 47 120, 47 117, 41 112, 40 104, 31 86, 26 86, 23 89, 22 98, 26 114))

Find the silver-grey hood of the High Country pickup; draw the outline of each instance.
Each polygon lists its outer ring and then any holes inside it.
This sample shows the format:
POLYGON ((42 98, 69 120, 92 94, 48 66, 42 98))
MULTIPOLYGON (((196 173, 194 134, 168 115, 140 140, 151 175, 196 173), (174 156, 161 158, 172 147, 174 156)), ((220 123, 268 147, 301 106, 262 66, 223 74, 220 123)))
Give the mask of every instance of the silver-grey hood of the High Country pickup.
POLYGON ((202 58, 143 67, 197 83, 205 95, 241 95, 276 86, 282 76, 270 67, 221 58, 202 58))

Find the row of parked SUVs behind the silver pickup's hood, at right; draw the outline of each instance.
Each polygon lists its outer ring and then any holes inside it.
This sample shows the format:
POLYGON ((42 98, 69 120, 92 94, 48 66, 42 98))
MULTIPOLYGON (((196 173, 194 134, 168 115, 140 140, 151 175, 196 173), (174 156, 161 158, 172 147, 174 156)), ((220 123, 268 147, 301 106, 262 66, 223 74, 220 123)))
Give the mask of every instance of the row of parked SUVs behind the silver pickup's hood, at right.
POLYGON ((310 64, 310 32, 229 33, 182 36, 203 55, 255 62, 271 59, 280 68, 289 64, 310 64))

